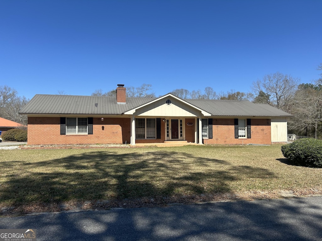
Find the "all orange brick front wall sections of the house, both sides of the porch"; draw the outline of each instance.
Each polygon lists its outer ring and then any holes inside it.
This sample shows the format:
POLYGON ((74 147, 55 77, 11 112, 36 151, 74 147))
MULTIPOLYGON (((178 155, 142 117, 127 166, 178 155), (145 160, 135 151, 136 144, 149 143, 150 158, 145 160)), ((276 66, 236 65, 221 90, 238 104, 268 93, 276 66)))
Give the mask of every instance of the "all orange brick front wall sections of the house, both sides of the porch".
MULTIPOLYGON (((185 139, 194 142, 194 118, 185 119, 185 139), (192 122, 193 125, 187 125, 192 122)), ((204 144, 271 144, 270 119, 251 119, 251 138, 234 138, 234 119, 213 119, 213 139, 204 144)), ((28 117, 28 145, 130 143, 130 118, 93 118, 92 135, 60 135, 60 117, 28 117)), ((165 122, 161 121, 161 139, 137 139, 136 143, 162 143, 165 122)))

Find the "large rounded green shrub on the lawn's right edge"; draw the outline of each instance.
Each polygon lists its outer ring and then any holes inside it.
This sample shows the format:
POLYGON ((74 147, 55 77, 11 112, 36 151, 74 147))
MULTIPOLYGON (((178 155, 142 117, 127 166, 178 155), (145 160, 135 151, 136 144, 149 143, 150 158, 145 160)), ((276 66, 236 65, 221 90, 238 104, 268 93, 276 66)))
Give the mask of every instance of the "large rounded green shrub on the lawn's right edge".
POLYGON ((281 147, 283 156, 296 165, 322 168, 322 140, 298 139, 281 147))

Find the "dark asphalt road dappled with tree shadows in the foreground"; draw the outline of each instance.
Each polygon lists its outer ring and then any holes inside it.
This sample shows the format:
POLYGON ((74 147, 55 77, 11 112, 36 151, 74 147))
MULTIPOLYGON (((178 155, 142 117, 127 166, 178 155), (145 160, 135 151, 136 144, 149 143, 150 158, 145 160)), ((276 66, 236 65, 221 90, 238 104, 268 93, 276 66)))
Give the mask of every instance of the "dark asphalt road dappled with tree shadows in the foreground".
POLYGON ((1 218, 40 240, 322 240, 322 196, 1 218))

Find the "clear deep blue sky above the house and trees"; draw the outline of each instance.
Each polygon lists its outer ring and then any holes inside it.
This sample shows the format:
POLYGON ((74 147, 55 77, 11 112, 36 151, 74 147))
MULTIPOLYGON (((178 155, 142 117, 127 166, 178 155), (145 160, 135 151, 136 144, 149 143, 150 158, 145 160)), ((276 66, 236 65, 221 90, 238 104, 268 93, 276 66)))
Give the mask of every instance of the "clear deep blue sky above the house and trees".
POLYGON ((322 1, 0 1, 0 85, 90 95, 117 84, 247 92, 322 62, 322 1))

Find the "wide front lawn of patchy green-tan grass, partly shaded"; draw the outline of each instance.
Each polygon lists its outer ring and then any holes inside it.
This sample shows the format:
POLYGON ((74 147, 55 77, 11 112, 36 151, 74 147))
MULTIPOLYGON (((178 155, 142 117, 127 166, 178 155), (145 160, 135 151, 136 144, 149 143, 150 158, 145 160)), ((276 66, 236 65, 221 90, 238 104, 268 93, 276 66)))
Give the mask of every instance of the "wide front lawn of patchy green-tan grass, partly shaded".
POLYGON ((0 206, 321 186, 280 145, 0 150, 0 206))

